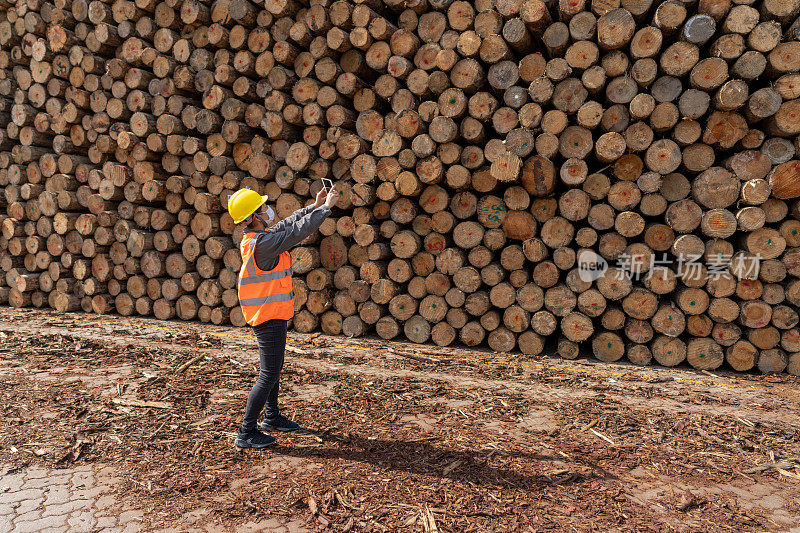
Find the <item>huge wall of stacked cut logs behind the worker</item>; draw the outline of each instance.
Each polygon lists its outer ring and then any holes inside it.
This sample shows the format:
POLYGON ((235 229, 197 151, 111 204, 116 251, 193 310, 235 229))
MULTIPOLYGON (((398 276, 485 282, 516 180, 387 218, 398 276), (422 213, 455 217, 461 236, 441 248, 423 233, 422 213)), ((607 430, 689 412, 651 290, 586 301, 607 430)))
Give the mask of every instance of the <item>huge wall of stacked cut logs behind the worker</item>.
POLYGON ((800 374, 798 14, 0 0, 0 302, 243 325, 228 197, 330 178, 297 331, 800 374))

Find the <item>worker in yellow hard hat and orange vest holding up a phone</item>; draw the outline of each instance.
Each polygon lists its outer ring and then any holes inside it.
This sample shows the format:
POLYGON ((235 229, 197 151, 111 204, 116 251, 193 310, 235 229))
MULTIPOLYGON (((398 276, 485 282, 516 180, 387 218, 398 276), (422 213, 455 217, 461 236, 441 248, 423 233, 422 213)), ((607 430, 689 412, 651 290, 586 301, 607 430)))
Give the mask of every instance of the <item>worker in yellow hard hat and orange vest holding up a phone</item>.
POLYGON ((276 222, 274 211, 266 205, 267 197, 255 191, 240 189, 228 201, 228 213, 234 223, 245 224, 239 245, 242 253, 239 303, 258 339, 260 357, 258 379, 247 398, 244 421, 235 441, 240 448, 264 448, 275 443, 275 437, 256 427, 262 409, 264 419, 260 427, 265 431, 293 431, 300 427, 278 410, 286 321, 294 316, 289 249, 319 228, 338 199, 338 192, 323 189, 314 205, 298 209, 280 222, 276 222))

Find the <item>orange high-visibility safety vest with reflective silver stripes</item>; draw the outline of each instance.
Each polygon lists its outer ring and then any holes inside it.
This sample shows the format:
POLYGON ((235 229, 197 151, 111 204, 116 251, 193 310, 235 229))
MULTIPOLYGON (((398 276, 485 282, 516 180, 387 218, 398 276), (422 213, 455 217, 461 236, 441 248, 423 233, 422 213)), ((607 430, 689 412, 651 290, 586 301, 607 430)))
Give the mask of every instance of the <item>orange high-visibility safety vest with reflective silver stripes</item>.
POLYGON ((256 239, 258 233, 245 233, 239 249, 242 252, 242 269, 239 271, 239 305, 245 321, 257 326, 267 320, 289 320, 294 316, 294 291, 292 290, 292 259, 289 252, 278 256, 272 270, 261 270, 256 265, 256 239))

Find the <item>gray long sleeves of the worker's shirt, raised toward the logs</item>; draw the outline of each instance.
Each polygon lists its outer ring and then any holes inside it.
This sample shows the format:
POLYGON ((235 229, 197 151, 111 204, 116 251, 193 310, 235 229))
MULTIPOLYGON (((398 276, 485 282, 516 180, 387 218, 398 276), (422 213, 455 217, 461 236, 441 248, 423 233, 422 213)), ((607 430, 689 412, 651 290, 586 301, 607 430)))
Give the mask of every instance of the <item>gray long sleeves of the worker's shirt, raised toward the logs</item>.
POLYGON ((317 231, 331 214, 328 206, 301 207, 256 237, 256 266, 272 270, 278 265, 278 256, 317 231))

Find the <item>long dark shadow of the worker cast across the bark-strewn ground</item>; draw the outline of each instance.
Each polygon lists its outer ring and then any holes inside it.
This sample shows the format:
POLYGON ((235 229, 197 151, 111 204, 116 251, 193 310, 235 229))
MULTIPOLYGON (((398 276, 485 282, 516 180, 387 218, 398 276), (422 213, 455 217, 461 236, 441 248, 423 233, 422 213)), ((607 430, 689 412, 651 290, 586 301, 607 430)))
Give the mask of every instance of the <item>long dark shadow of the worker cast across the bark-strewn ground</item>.
MULTIPOLYGON (((291 444, 281 443, 274 450, 292 457, 346 459, 410 474, 449 478, 460 483, 475 485, 531 489, 537 485, 569 485, 587 479, 580 472, 565 465, 563 457, 553 455, 501 450, 459 451, 439 448, 423 440, 373 440, 352 434, 339 435, 329 432, 309 432, 309 434, 317 435, 328 446, 295 448, 291 444), (490 466, 493 457, 499 458, 503 465, 509 466, 490 466), (519 470, 511 468, 510 465, 515 463, 523 463, 525 466, 519 470)), ((595 473, 589 476, 598 475, 596 469, 592 470, 595 473)), ((600 475, 605 477, 607 474, 601 472, 600 475)))

